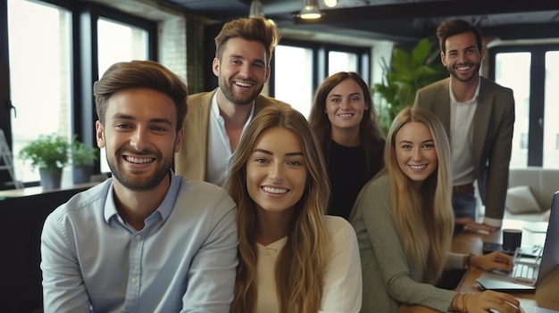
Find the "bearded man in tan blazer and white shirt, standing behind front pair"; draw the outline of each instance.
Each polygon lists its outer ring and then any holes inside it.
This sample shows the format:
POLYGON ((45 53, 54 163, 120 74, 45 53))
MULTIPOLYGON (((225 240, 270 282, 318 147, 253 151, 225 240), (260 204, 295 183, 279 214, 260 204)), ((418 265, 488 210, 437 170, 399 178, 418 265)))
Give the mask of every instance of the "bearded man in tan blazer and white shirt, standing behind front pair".
POLYGON ((189 180, 225 185, 229 163, 246 125, 268 105, 288 105, 260 95, 270 78, 271 54, 280 37, 275 24, 243 18, 215 37, 213 74, 219 87, 188 97, 188 114, 175 172, 189 180))

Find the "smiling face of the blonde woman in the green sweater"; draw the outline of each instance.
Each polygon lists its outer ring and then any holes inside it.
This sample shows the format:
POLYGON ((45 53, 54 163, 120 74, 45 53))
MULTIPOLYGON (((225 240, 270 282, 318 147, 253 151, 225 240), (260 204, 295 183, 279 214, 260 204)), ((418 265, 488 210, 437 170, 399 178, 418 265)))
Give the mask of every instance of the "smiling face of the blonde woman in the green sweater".
POLYGON ((429 128, 421 122, 408 122, 395 137, 398 167, 418 186, 437 169, 437 151, 429 128))

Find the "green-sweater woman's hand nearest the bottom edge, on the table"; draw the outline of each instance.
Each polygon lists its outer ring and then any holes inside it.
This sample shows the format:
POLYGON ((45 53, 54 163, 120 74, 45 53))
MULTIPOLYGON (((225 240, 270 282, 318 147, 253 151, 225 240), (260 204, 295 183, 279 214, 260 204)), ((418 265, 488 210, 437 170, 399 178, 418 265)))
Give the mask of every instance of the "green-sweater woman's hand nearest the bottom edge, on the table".
POLYGON ((520 313, 520 305, 520 301, 503 292, 471 293, 466 298, 466 311, 468 313, 487 313, 489 309, 501 313, 520 313))

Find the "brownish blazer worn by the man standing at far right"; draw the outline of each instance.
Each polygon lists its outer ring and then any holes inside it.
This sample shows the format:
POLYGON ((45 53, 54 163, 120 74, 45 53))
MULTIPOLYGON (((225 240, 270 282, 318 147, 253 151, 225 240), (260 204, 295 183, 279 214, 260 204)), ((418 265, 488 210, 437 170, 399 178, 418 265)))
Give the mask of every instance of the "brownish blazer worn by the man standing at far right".
MULTIPOLYGON (((414 105, 430 109, 450 138, 450 78, 417 91, 414 105)), ((481 201, 488 218, 503 218, 514 125, 513 90, 480 78, 478 106, 473 116, 473 158, 481 201)))

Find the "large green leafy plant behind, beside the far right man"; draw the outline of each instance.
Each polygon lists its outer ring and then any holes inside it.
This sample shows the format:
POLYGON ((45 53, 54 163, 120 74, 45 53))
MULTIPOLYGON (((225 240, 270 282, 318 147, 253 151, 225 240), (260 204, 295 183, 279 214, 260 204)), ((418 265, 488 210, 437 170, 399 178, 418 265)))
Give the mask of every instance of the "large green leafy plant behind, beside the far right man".
POLYGON ((439 55, 440 49, 433 51, 433 43, 423 38, 411 52, 395 47, 390 66, 382 59, 380 66, 384 78, 381 84, 373 86, 373 91, 385 100, 377 105, 380 128, 385 134, 396 114, 413 105, 417 89, 448 76, 446 68, 439 62, 439 55))

